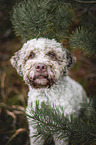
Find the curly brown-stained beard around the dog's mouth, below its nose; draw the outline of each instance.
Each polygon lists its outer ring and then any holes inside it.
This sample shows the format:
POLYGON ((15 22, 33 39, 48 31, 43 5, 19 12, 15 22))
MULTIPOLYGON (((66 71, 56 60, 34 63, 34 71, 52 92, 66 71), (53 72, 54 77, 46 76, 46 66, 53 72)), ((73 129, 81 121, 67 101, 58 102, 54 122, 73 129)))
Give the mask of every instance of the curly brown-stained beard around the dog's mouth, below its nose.
POLYGON ((45 72, 36 72, 33 69, 30 69, 29 71, 26 71, 23 79, 32 88, 50 88, 60 78, 59 72, 59 69, 52 69, 48 66, 47 71, 45 72))

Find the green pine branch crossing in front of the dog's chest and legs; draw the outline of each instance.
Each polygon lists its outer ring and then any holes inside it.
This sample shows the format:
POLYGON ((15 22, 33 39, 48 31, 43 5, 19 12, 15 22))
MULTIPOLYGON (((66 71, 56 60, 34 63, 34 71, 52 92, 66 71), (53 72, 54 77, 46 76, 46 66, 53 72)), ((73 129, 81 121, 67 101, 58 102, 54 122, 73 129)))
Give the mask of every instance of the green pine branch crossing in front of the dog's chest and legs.
POLYGON ((82 104, 81 107, 79 116, 75 113, 65 116, 63 108, 51 107, 44 102, 40 107, 39 102, 36 102, 34 109, 31 104, 27 116, 32 118, 32 124, 37 129, 33 137, 46 138, 55 134, 61 140, 69 138, 70 145, 93 145, 96 143, 96 111, 90 103, 82 104))

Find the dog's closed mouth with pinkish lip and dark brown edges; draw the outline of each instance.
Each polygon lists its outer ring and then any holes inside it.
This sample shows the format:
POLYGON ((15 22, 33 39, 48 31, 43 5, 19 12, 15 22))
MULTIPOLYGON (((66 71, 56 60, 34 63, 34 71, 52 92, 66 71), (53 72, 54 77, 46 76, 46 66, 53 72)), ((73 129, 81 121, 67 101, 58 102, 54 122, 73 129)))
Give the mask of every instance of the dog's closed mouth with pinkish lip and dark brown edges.
POLYGON ((55 80, 48 78, 47 75, 38 75, 33 79, 30 78, 29 83, 33 88, 47 88, 51 87, 55 83, 55 80))

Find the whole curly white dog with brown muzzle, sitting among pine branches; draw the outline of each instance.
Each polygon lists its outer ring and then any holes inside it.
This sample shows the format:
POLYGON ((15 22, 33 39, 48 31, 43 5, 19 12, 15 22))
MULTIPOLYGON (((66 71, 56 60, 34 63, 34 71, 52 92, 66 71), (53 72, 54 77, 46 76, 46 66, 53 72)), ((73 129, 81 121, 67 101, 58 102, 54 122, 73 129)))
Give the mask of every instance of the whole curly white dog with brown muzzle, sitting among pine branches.
MULTIPOLYGON (((84 101, 85 91, 80 84, 66 76, 74 58, 54 39, 38 38, 27 41, 11 58, 18 74, 23 76, 29 86, 28 106, 36 100, 50 102, 51 105, 63 106, 64 113, 76 112, 84 101)), ((34 135, 30 119, 30 136, 34 135)), ((55 145, 66 145, 64 140, 53 136, 55 145)), ((31 145, 43 145, 44 140, 31 138, 31 145)))

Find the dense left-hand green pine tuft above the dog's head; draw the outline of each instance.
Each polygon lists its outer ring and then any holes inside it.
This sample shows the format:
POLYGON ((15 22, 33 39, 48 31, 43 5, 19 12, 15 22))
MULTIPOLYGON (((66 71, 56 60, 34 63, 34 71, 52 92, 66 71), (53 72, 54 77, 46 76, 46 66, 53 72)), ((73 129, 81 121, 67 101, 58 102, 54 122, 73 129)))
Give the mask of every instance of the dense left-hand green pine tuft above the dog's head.
MULTIPOLYGON (((13 10, 12 22, 17 35, 23 39, 34 38, 45 30, 49 1, 23 1, 13 10), (42 11, 44 13, 42 13, 42 11), (43 30, 42 30, 43 28, 43 30)), ((49 18, 47 19, 50 20, 49 18)))

